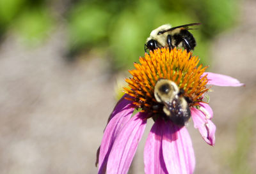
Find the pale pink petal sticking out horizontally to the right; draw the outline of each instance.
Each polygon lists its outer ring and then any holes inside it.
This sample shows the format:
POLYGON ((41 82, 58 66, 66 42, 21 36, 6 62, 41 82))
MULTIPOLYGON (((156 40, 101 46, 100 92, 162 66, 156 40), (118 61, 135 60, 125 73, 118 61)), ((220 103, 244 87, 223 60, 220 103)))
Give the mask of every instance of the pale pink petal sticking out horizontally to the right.
POLYGON ((202 76, 207 74, 208 85, 217 85, 217 86, 231 86, 231 87, 239 87, 243 86, 244 83, 240 83, 236 78, 232 78, 231 76, 220 75, 216 73, 205 72, 202 76))

